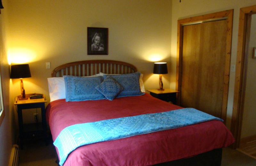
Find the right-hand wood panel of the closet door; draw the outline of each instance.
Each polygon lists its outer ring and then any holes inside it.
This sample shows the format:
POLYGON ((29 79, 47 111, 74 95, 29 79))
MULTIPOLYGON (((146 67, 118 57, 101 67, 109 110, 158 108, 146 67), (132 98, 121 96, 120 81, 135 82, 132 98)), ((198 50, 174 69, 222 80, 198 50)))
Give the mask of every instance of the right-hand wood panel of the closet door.
POLYGON ((201 85, 198 109, 213 116, 221 117, 225 55, 227 40, 227 20, 201 24, 200 57, 202 59, 201 85))

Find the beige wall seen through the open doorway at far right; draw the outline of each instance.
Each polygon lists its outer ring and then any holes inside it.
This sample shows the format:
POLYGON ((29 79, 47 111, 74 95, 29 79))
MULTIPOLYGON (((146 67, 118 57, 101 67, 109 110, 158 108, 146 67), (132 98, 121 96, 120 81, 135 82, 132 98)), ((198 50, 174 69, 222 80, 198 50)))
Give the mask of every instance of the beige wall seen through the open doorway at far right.
POLYGON ((256 47, 256 14, 252 15, 252 25, 247 65, 247 78, 244 99, 244 114, 241 138, 256 135, 256 59, 252 58, 253 48, 256 47))

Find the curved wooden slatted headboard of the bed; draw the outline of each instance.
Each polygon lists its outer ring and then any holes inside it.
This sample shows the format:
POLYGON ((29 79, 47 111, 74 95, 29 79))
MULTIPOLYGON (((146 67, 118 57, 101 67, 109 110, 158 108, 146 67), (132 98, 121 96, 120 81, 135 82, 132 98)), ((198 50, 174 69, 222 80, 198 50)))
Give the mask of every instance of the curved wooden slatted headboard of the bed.
POLYGON ((52 71, 52 77, 91 76, 100 72, 106 74, 127 74, 137 72, 134 65, 113 60, 87 60, 62 64, 52 71))

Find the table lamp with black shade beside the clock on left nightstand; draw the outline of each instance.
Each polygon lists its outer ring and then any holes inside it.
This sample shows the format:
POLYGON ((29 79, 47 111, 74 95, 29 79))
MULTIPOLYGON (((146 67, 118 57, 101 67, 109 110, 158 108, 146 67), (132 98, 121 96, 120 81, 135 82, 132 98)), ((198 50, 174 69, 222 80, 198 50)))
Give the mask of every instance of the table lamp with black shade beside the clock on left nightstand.
POLYGON ((31 77, 28 64, 12 64, 11 65, 11 79, 20 79, 20 92, 19 100, 27 100, 22 78, 31 77))

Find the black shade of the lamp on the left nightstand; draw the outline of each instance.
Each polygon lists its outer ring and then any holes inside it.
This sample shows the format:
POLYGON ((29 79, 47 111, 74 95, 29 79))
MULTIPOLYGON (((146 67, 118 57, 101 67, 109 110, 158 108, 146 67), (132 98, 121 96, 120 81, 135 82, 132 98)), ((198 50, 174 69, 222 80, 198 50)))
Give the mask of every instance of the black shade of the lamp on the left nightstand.
POLYGON ((11 65, 11 79, 21 79, 31 77, 28 64, 11 65))

